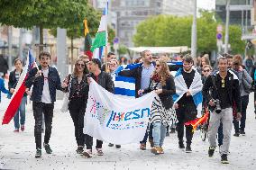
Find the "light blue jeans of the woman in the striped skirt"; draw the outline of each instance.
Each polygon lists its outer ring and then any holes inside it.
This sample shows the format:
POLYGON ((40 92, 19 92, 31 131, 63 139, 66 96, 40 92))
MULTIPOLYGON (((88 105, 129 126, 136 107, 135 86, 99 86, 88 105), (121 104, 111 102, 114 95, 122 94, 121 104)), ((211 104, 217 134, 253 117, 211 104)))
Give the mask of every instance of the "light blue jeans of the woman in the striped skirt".
POLYGON ((154 122, 152 135, 154 147, 162 147, 166 136, 166 127, 161 122, 154 122))

